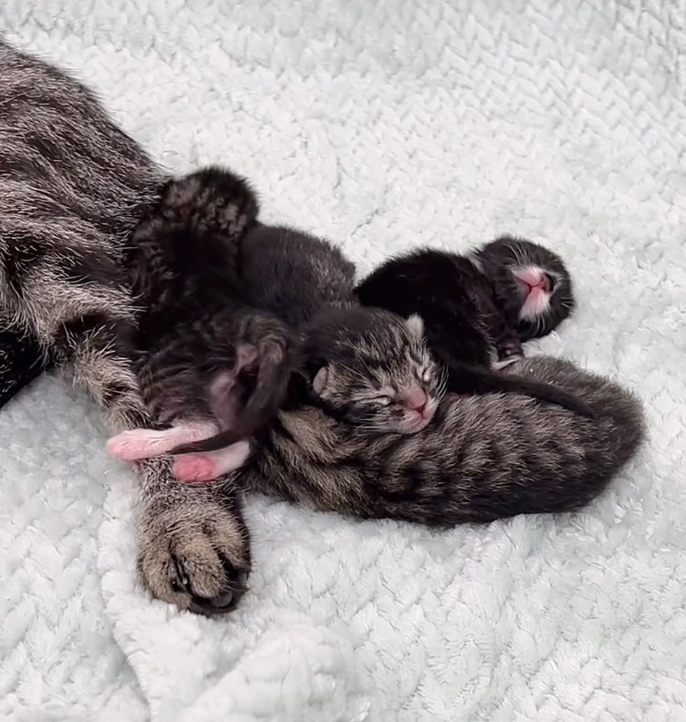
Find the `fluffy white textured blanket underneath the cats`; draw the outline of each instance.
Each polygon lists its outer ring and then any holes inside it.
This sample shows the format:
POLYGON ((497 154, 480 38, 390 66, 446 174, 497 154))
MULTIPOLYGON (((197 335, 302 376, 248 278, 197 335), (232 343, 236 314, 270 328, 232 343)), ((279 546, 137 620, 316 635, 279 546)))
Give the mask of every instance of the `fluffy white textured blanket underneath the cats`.
POLYGON ((684 0, 4 0, 0 20, 165 165, 227 162, 360 271, 548 243, 579 308, 531 352, 617 375, 651 425, 575 516, 438 533, 253 498, 251 593, 212 621, 136 587, 132 476, 44 378, 0 412, 0 718, 685 720, 684 0))

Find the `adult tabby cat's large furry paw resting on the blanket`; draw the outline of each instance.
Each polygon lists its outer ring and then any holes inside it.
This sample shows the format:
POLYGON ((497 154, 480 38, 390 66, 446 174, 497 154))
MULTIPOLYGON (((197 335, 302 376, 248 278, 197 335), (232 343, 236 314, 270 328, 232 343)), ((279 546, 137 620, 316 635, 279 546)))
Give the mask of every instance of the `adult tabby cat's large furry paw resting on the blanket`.
POLYGON ((192 488, 160 494, 142 508, 139 575, 157 599, 196 614, 225 614, 246 591, 248 531, 238 503, 192 488))

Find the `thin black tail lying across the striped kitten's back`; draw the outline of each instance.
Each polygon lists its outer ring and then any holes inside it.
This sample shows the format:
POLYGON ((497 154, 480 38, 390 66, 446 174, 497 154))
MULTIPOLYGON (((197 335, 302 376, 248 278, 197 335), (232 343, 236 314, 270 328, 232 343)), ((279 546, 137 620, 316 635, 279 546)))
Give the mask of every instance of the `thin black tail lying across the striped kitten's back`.
POLYGON ((505 391, 531 396, 538 401, 562 406, 563 409, 592 419, 595 412, 586 401, 563 388, 512 373, 498 373, 471 364, 448 365, 448 391, 453 393, 487 393, 505 391))

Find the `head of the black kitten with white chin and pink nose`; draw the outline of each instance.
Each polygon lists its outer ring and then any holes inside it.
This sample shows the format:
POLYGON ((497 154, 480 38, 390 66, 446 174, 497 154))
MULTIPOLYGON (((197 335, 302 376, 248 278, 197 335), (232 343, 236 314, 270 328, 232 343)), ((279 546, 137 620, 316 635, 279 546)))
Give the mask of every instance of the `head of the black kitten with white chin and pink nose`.
POLYGON ((550 334, 575 302, 562 258, 528 240, 503 236, 474 254, 491 279, 508 322, 522 341, 550 334))

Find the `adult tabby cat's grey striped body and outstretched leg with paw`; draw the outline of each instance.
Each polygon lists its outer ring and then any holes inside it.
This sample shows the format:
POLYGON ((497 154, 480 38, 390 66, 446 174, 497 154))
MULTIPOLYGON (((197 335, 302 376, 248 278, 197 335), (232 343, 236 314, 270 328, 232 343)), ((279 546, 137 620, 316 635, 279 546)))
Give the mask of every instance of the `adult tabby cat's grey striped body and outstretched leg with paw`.
MULTIPOLYGON (((20 354, 68 366, 117 430, 155 423, 134 367, 129 252, 165 181, 90 90, 0 40, 0 329, 28 344, 20 354)), ((27 378, 15 368, 5 395, 27 378)), ((178 484, 168 459, 138 468, 142 580, 184 609, 228 609, 250 566, 240 497, 178 484)))

